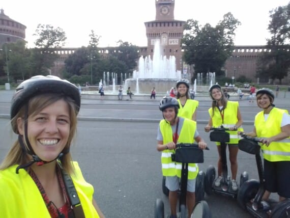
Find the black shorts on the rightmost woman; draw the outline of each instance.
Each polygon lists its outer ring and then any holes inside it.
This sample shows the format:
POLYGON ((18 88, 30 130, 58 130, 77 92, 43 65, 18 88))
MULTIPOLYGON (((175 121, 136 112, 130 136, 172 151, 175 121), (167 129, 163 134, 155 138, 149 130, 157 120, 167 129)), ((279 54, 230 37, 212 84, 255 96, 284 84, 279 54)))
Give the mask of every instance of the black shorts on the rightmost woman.
POLYGON ((290 198, 290 161, 271 162, 264 159, 265 188, 279 196, 290 198))

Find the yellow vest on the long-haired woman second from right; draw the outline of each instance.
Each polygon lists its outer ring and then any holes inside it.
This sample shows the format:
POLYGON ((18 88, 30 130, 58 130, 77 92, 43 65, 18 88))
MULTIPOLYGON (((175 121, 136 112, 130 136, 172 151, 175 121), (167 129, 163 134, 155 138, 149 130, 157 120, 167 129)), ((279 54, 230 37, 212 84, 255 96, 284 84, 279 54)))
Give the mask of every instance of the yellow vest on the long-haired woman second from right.
MULTIPOLYGON (((209 108, 209 114, 213 121, 213 127, 219 127, 223 125, 224 128, 234 127, 238 122, 238 101, 227 101, 226 108, 223 112, 220 113, 217 107, 214 108, 214 116, 213 116, 213 108, 209 108), (222 119, 223 115, 223 119, 222 119)), ((242 126, 238 128, 238 131, 244 131, 242 126)), ((238 144, 241 137, 238 135, 238 131, 227 131, 229 135, 229 142, 227 144, 238 144)), ((219 142, 216 142, 217 145, 220 145, 219 142)))

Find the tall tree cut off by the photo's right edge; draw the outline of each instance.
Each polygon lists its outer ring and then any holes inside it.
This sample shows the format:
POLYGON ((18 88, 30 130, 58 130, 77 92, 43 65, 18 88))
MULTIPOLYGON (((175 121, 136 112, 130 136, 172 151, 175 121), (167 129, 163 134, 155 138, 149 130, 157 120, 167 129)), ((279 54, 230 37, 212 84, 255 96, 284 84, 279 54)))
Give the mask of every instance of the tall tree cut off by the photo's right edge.
POLYGON ((282 79, 290 68, 290 3, 270 11, 268 30, 271 38, 267 39, 267 51, 258 61, 257 77, 282 79))

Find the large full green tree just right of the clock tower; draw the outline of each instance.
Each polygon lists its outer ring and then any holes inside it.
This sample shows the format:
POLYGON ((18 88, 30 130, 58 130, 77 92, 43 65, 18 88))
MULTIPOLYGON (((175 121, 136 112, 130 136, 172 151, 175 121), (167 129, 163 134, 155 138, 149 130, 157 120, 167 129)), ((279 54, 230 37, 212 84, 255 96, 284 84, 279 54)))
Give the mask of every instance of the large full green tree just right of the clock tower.
POLYGON ((197 73, 216 72, 217 76, 221 75, 221 68, 233 52, 235 30, 240 24, 231 13, 225 14, 215 27, 209 23, 202 27, 197 20, 187 20, 182 39, 185 63, 194 65, 197 73))

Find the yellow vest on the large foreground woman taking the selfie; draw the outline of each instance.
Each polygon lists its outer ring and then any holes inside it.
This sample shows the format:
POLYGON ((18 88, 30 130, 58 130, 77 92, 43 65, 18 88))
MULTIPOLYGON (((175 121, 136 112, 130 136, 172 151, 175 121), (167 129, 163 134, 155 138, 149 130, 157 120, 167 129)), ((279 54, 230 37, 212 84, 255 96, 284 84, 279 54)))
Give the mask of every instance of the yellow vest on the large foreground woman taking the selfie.
MULTIPOLYGON (((99 217, 92 204, 94 188, 87 183, 78 167, 73 162, 75 174, 71 175, 85 217, 99 217)), ((0 213, 5 218, 50 218, 47 206, 31 176, 20 170, 15 173, 18 165, 0 171, 0 213)))

